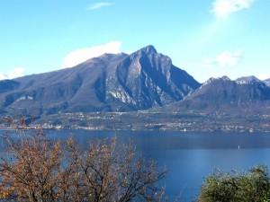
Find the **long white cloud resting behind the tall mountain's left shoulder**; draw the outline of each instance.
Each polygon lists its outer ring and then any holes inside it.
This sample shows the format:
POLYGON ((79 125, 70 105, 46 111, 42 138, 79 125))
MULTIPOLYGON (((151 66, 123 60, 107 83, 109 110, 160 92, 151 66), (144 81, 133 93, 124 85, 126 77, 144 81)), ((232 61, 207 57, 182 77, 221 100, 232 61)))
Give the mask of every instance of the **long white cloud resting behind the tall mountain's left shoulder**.
POLYGON ((62 68, 72 67, 85 62, 93 57, 99 57, 105 53, 117 54, 121 52, 121 41, 111 41, 109 43, 81 48, 67 54, 64 58, 62 68))

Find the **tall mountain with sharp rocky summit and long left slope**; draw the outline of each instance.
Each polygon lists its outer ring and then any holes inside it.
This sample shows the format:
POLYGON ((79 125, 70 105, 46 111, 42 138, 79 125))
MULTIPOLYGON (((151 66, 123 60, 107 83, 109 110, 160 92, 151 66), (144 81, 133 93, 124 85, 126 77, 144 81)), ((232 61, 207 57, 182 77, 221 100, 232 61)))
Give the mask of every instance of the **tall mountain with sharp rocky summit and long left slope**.
POLYGON ((0 81, 0 111, 59 112, 146 110, 181 101, 200 87, 153 46, 104 54, 73 68, 0 81))

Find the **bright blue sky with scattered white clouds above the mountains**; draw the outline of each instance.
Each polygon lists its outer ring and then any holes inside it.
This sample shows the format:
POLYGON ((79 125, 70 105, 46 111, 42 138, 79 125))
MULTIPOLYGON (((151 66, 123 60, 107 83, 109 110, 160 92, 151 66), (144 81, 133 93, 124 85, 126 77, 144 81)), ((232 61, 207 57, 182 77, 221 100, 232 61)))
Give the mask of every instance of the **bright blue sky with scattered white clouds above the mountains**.
POLYGON ((270 78, 270 0, 1 0, 0 79, 153 45, 199 82, 270 78))

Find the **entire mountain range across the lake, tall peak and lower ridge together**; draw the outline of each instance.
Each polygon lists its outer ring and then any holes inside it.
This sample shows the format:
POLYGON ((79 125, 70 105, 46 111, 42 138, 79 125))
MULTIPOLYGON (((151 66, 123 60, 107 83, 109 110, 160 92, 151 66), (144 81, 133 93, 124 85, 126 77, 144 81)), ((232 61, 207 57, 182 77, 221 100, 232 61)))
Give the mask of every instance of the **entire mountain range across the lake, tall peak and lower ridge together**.
POLYGON ((149 110, 260 112, 270 79, 227 76, 197 82, 153 46, 104 54, 72 68, 0 81, 0 114, 149 110))

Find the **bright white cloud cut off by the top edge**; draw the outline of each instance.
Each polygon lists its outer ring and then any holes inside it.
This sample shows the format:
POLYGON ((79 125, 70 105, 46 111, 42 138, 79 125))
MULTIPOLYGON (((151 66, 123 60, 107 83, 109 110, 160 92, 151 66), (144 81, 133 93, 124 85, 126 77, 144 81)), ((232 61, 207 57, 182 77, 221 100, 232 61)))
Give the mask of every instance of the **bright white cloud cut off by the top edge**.
POLYGON ((253 3, 254 0, 215 0, 211 11, 218 17, 226 17, 229 13, 250 8, 253 3))

